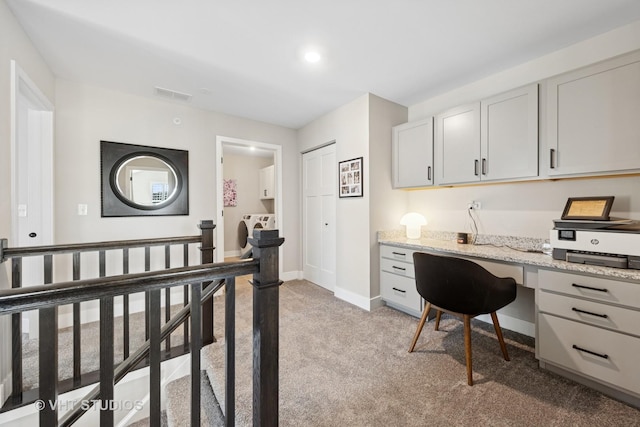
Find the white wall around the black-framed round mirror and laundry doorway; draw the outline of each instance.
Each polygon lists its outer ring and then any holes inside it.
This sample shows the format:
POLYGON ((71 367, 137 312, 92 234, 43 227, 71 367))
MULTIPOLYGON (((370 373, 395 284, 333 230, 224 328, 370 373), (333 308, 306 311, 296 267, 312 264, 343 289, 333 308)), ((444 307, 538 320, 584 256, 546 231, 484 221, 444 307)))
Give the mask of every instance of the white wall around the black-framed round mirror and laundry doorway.
POLYGON ((198 234, 200 220, 216 217, 215 141, 224 135, 283 147, 284 270, 298 270, 295 131, 66 80, 56 83, 56 110, 56 243, 198 234), (100 140, 188 150, 189 215, 101 218, 100 140), (87 216, 76 214, 79 203, 87 216))

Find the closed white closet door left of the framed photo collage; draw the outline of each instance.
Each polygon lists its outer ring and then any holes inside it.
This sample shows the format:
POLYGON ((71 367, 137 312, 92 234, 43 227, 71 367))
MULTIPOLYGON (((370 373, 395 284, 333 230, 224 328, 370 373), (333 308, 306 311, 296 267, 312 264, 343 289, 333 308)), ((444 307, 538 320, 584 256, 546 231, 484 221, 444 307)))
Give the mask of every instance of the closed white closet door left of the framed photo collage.
POLYGON ((333 291, 336 282, 335 144, 303 154, 303 274, 333 291))

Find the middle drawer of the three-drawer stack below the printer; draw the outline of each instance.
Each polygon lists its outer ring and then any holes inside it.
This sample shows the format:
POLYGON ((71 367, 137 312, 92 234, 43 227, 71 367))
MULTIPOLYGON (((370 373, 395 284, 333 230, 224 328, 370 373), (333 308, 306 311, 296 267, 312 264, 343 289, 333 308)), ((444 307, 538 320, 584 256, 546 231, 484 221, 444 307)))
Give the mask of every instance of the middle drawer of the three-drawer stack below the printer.
POLYGON ((540 291, 538 309, 591 325, 639 335, 640 311, 540 291))

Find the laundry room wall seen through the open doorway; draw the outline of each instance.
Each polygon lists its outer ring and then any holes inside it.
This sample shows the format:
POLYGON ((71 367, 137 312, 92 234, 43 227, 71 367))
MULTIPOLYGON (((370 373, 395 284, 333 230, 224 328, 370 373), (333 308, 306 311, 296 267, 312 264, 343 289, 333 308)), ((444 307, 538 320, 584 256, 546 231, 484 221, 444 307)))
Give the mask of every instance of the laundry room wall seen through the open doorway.
POLYGON ((273 213, 273 200, 260 199, 260 169, 273 164, 269 157, 224 153, 224 179, 235 179, 237 206, 224 207, 225 256, 240 255, 238 224, 245 214, 273 213))

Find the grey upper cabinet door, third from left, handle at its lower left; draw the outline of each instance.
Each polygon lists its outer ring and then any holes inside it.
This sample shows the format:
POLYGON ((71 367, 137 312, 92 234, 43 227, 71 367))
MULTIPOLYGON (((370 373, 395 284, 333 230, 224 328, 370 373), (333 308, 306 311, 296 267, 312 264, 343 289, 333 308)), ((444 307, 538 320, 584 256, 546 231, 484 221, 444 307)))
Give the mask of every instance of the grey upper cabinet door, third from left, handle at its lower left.
POLYGON ((482 181, 538 176, 538 85, 480 103, 482 181))

